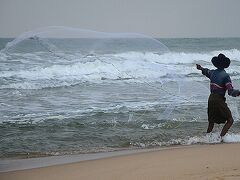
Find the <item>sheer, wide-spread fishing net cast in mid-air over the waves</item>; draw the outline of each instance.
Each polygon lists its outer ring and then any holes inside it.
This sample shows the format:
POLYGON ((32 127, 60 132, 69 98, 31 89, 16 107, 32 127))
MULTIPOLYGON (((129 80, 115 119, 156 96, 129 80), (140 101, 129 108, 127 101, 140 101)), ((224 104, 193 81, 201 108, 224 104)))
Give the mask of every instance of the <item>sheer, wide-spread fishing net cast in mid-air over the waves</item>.
POLYGON ((175 62, 167 46, 142 34, 46 27, 22 34, 0 53, 1 78, 10 79, 1 89, 79 85, 81 91, 98 84, 92 94, 91 89, 81 95, 84 112, 117 107, 118 113, 128 112, 128 121, 147 120, 149 114, 157 120, 206 120, 209 92, 206 82, 197 81, 195 65, 175 62))

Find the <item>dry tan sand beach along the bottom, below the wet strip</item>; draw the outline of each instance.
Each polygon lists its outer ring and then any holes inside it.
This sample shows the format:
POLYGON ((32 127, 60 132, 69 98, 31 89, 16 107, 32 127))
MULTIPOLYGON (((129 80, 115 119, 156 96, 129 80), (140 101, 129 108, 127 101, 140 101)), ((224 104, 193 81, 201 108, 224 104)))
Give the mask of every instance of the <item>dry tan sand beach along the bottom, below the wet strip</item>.
POLYGON ((167 148, 2 172, 1 180, 240 179, 240 144, 167 148))

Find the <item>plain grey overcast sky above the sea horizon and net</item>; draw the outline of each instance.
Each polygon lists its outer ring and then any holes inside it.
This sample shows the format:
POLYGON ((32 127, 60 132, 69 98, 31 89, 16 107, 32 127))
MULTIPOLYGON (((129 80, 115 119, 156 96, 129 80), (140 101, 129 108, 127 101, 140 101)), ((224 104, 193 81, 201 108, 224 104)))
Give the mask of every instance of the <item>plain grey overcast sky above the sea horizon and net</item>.
POLYGON ((44 26, 153 37, 240 37, 240 0, 0 0, 0 37, 44 26))

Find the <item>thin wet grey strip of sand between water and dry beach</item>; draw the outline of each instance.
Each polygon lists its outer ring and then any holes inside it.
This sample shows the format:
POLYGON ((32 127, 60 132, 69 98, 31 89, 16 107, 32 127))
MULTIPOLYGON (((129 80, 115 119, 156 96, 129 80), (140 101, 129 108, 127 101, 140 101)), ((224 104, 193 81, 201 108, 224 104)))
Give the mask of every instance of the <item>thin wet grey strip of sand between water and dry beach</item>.
POLYGON ((195 146, 205 146, 205 145, 206 144, 204 145, 203 144, 172 145, 172 146, 152 147, 152 148, 132 148, 132 149, 124 148, 124 149, 112 150, 112 151, 100 151, 100 152, 66 154, 66 155, 7 157, 7 158, 0 159, 0 173, 49 167, 49 166, 55 166, 55 165, 64 165, 64 164, 70 164, 70 163, 76 163, 76 162, 82 162, 82 161, 92 161, 92 160, 134 155, 134 154, 154 152, 154 151, 164 151, 164 150, 179 149, 179 148, 193 148, 195 146))

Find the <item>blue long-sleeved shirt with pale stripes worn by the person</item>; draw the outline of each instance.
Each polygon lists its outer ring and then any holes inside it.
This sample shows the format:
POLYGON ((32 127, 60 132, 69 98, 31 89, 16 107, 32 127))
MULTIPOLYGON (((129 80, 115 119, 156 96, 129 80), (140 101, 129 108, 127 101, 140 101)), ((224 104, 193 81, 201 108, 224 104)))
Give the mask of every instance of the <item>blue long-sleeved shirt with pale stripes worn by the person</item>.
POLYGON ((207 68, 202 69, 202 74, 210 79, 210 91, 214 94, 220 94, 225 96, 228 90, 228 95, 236 97, 240 91, 233 89, 230 76, 224 69, 209 70, 207 68))

